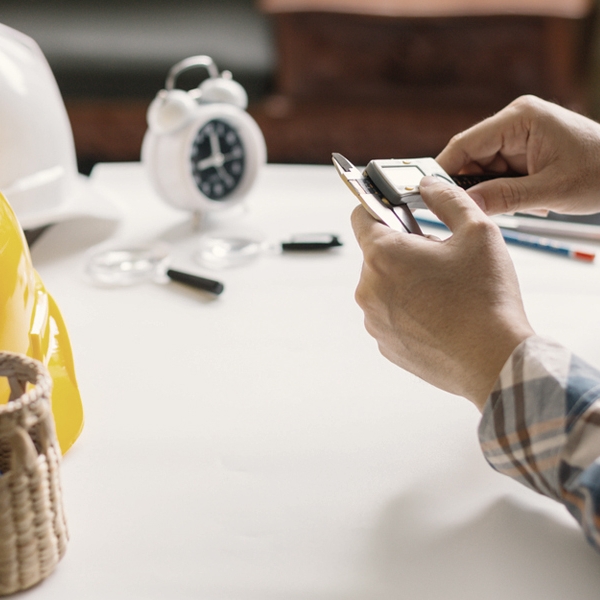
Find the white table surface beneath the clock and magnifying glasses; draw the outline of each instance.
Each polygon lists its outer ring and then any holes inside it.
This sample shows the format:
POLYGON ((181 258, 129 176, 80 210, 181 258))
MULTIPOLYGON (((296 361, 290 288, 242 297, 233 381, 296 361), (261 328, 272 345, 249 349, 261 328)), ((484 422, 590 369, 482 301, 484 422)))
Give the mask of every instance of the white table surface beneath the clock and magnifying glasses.
MULTIPOLYGON (((353 294, 352 197, 333 167, 269 165, 244 214, 269 239, 338 233, 322 255, 209 271, 198 234, 138 164, 99 165, 123 208, 64 222, 33 260, 67 322, 86 412, 62 464, 71 540, 23 597, 598 598, 600 556, 566 509, 494 472, 467 401, 381 357, 353 294), (102 289, 108 239, 163 239, 225 283, 102 289)), ((532 324, 600 364, 597 265, 511 248, 532 324)))

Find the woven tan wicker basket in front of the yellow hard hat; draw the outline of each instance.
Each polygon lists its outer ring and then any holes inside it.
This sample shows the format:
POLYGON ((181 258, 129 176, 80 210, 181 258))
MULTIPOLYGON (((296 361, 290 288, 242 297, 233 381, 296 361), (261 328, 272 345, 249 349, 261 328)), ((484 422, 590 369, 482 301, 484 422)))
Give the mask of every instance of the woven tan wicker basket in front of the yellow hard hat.
POLYGON ((6 595, 49 575, 68 534, 52 380, 41 363, 7 352, 0 352, 0 376, 11 390, 9 402, 0 405, 0 595, 6 595))

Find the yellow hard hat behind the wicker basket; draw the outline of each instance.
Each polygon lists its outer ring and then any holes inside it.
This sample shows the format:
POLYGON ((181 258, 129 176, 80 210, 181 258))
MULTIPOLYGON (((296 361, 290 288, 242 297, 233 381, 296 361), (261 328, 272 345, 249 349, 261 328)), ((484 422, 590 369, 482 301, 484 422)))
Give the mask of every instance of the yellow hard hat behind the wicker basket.
MULTIPOLYGON (((54 299, 31 263, 29 247, 15 213, 0 194, 0 350, 42 362, 53 380, 52 412, 63 454, 83 427, 69 336, 54 299)), ((8 383, 0 381, 0 402, 8 383)))

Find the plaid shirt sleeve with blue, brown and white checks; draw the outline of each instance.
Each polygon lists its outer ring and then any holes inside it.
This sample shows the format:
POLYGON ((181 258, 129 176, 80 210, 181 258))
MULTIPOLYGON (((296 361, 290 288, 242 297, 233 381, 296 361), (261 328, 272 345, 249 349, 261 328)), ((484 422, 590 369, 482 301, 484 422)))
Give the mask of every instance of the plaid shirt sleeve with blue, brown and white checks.
POLYGON ((530 337, 500 373, 479 441, 494 469, 562 502, 600 551, 600 371, 530 337))

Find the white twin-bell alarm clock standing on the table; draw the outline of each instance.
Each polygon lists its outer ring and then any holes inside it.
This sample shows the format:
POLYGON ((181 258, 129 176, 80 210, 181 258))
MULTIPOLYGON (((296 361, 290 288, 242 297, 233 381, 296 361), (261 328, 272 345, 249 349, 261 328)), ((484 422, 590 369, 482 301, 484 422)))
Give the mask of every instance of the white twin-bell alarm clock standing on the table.
POLYGON ((229 71, 209 56, 192 56, 174 65, 148 108, 142 144, 152 185, 169 204, 194 213, 243 201, 267 151, 262 132, 246 112, 248 96, 229 71), (204 67, 209 77, 189 91, 177 77, 204 67))

